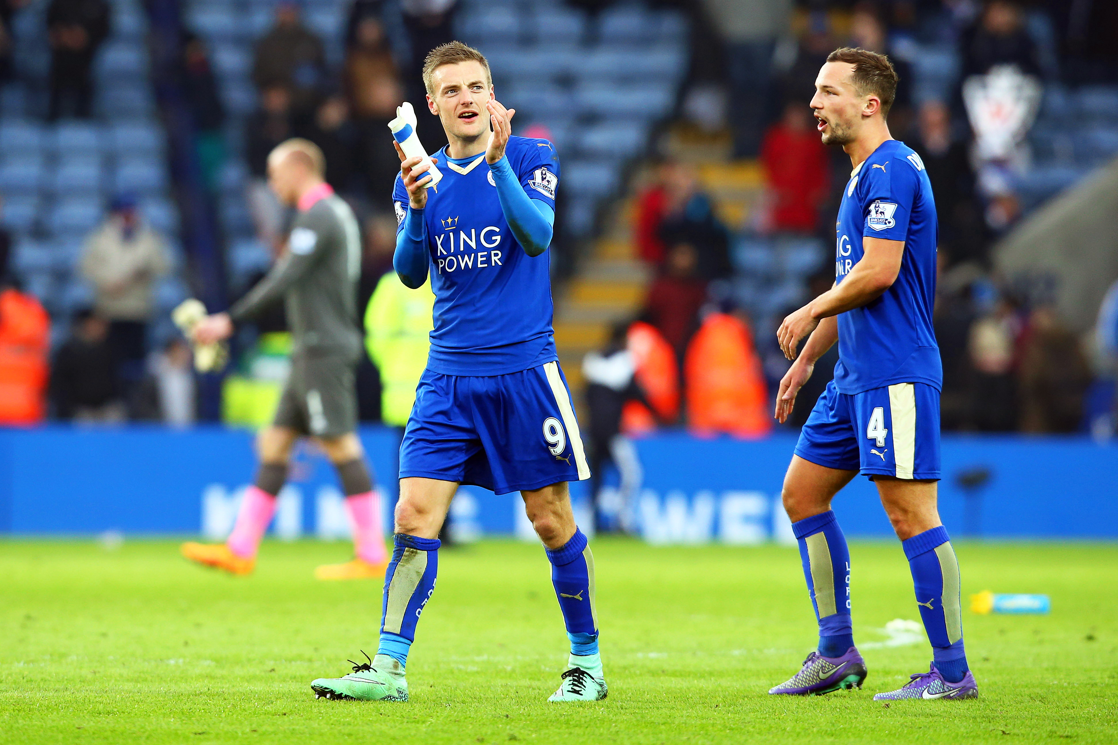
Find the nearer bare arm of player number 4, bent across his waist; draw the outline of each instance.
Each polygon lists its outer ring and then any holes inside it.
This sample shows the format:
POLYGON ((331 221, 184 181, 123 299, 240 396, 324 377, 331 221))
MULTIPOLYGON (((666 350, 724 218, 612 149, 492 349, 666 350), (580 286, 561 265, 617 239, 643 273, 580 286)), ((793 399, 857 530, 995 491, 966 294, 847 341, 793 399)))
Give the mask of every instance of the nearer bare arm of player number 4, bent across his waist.
POLYGON ((796 359, 800 340, 815 331, 823 318, 860 308, 893 286, 904 257, 904 241, 882 238, 863 239, 865 256, 842 283, 799 308, 780 324, 777 340, 784 356, 796 359))

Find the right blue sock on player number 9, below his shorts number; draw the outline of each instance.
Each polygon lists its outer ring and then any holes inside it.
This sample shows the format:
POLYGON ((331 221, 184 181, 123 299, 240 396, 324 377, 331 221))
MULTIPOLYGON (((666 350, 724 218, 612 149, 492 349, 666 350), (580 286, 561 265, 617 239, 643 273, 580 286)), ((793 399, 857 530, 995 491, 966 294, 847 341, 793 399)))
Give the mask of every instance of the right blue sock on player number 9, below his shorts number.
MULTIPOLYGON (((598 653, 598 622, 594 598, 594 554, 586 535, 575 535, 561 548, 547 550, 551 562, 551 584, 567 625, 570 653, 587 657, 598 653)), ((599 662, 600 667, 600 662, 599 662)))

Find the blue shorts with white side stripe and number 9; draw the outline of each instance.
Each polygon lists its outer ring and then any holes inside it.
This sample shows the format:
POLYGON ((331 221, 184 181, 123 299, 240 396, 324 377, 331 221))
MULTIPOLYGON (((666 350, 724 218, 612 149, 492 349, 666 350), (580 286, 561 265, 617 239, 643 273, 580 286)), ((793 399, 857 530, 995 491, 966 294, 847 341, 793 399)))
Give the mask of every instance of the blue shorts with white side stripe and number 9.
POLYGON ((590 478, 558 362, 508 375, 424 371, 400 445, 400 478, 496 494, 590 478))

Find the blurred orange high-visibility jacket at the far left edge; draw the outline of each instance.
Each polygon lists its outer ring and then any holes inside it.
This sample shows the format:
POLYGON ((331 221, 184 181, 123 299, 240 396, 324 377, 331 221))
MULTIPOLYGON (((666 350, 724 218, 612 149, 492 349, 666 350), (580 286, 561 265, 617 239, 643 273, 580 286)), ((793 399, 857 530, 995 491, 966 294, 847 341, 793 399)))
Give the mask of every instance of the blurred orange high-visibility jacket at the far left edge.
POLYGON ((16 289, 0 292, 0 424, 36 424, 46 412, 50 316, 16 289))

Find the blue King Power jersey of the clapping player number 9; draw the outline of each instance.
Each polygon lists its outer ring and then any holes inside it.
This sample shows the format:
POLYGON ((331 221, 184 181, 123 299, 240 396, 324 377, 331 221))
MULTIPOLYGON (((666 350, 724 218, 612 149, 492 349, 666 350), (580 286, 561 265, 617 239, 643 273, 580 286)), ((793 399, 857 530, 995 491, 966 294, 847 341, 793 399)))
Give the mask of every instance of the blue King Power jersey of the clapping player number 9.
MULTIPOLYGON (((551 143, 510 137, 505 154, 528 195, 555 210, 559 157, 551 143)), ((444 147, 435 157, 443 180, 427 190, 424 210, 435 293, 427 369, 505 375, 558 360, 548 254, 530 257, 517 242, 484 153, 455 163, 444 147)), ((408 194, 399 175, 392 202, 402 226, 408 194)))

